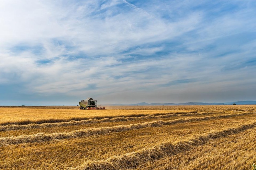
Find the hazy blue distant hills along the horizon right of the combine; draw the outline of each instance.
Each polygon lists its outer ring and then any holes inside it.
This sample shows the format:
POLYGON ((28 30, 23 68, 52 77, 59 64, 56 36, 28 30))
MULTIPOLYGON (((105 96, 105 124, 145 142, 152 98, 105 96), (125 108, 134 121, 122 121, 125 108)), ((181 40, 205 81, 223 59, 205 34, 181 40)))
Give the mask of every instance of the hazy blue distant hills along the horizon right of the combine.
POLYGON ((109 106, 188 106, 188 105, 256 105, 256 101, 234 101, 226 103, 203 103, 203 102, 186 102, 186 103, 136 103, 136 104, 111 104, 109 106))

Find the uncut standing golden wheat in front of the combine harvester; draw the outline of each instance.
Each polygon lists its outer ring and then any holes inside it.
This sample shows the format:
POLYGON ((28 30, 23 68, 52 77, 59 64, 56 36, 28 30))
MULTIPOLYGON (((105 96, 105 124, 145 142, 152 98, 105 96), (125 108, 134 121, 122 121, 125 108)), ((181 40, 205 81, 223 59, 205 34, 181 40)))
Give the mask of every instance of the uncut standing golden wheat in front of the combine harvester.
POLYGON ((115 117, 140 117, 171 113, 191 113, 194 110, 79 110, 79 109, 38 109, 0 107, 0 125, 56 123, 80 121, 87 119, 104 119, 115 117))

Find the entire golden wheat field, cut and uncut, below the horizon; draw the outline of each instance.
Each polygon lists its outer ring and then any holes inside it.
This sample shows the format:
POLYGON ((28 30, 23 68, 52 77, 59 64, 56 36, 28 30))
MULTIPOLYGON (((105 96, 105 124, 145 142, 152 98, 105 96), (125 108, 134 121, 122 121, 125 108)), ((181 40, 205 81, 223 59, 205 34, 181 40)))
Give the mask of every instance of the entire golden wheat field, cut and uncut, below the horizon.
POLYGON ((256 106, 0 107, 0 169, 253 169, 256 106))

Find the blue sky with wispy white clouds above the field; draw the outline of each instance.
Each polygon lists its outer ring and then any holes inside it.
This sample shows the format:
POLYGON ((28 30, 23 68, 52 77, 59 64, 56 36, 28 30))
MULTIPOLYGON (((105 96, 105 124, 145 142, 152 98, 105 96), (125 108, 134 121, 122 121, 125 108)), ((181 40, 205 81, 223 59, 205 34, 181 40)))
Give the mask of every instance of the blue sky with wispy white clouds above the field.
POLYGON ((255 0, 1 0, 0 105, 256 100, 255 0))

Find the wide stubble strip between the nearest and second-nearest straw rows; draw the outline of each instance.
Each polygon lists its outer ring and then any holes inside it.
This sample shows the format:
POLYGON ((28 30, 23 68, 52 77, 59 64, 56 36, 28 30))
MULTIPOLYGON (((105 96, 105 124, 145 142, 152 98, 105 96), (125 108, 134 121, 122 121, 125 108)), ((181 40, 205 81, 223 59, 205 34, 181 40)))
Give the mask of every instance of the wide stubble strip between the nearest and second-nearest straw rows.
POLYGON ((225 127, 246 123, 254 120, 253 116, 249 115, 243 119, 232 117, 196 121, 160 128, 148 127, 72 140, 2 146, 0 162, 4 164, 0 164, 0 169, 12 169, 13 166, 17 169, 49 170, 76 167, 88 160, 108 159, 110 156, 132 153, 166 141, 181 141, 212 129, 221 130, 225 127))

